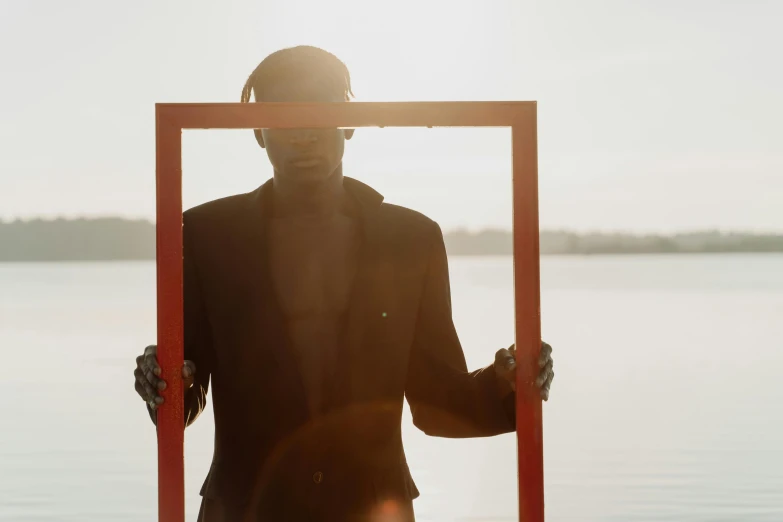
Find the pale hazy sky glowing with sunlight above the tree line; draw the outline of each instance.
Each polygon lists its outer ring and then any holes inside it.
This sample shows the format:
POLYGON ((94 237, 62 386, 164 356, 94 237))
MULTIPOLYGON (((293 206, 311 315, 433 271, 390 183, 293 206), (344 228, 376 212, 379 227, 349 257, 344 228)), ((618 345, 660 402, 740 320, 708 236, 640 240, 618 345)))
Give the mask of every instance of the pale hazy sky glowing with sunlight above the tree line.
MULTIPOLYGON (((154 218, 154 104, 235 102, 317 45, 361 101, 536 100, 540 224, 783 231, 783 2, 0 0, 0 219, 154 218)), ((345 174, 444 229, 511 226, 510 131, 361 129, 345 174)), ((186 131, 186 207, 271 176, 186 131)))

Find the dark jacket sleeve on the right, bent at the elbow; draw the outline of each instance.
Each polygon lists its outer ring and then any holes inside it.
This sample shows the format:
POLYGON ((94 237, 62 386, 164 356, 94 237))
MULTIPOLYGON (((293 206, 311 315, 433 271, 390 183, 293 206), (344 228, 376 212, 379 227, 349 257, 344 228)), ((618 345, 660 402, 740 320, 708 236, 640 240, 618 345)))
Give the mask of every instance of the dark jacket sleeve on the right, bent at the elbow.
POLYGON ((514 394, 501 397, 493 366, 468 372, 452 320, 443 233, 434 228, 405 386, 413 423, 450 438, 514 431, 514 394))

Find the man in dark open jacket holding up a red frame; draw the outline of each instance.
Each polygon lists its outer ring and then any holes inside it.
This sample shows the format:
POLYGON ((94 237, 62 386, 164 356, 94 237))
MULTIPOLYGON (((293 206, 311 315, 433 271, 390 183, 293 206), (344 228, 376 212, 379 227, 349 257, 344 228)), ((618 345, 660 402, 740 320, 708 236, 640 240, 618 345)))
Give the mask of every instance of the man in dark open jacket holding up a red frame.
MULTIPOLYGON (((350 76, 314 47, 284 49, 242 101, 346 102, 350 76)), ((343 177, 352 130, 256 130, 274 176, 184 213, 186 423, 212 382, 215 450, 199 520, 412 521, 401 439, 514 430, 513 347, 468 372, 436 223, 343 177)), ((137 358, 153 421, 166 383, 137 358)), ((548 397, 551 348, 537 385, 548 397)))

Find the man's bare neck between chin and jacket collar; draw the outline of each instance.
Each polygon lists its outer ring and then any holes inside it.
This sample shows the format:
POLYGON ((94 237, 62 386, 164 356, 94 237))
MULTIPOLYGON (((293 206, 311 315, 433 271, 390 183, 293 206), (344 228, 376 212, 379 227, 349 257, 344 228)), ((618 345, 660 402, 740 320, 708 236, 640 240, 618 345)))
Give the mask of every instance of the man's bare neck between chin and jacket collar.
POLYGON ((322 183, 292 183, 275 172, 274 208, 276 217, 326 217, 345 205, 342 166, 322 183))

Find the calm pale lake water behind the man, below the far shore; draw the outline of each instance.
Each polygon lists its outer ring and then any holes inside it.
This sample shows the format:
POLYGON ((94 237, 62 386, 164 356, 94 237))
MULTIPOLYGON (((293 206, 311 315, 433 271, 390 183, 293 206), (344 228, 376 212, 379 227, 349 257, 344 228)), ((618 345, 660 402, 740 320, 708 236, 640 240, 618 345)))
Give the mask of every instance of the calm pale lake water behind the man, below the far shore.
MULTIPOLYGON (((509 258, 452 259, 472 367, 512 339, 509 258)), ((0 520, 155 520, 134 358, 152 263, 0 265, 0 520)), ((550 521, 783 521, 783 256, 546 258, 550 521)), ((515 520, 515 441, 405 419, 420 520, 515 520)), ((188 429, 190 520, 211 413, 188 429)))

